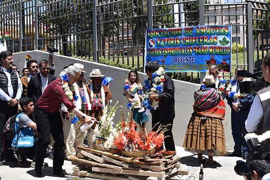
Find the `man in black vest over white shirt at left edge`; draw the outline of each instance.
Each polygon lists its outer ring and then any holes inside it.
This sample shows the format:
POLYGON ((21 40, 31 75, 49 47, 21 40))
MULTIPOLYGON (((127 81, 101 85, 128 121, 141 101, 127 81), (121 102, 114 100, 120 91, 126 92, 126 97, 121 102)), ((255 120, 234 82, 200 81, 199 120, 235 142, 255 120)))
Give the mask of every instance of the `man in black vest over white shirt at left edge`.
MULTIPOLYGON (((23 87, 19 74, 11 68, 13 64, 12 53, 2 51, 0 53, 0 130, 8 118, 15 115, 18 103, 22 96, 23 87)), ((0 131, 0 166, 3 164, 4 134, 0 131)))

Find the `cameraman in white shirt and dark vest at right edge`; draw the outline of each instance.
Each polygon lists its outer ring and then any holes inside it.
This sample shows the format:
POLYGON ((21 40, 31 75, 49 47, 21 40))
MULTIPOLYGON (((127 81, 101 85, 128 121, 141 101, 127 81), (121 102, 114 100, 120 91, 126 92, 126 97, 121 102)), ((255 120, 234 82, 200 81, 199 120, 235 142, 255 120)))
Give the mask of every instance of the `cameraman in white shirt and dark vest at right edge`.
MULTIPOLYGON (((265 80, 265 88, 257 92, 254 102, 250 107, 247 120, 245 122, 246 131, 251 133, 257 131, 258 135, 270 130, 270 52, 263 58, 261 69, 265 80)), ((262 152, 270 151, 270 138, 262 141, 262 152)))

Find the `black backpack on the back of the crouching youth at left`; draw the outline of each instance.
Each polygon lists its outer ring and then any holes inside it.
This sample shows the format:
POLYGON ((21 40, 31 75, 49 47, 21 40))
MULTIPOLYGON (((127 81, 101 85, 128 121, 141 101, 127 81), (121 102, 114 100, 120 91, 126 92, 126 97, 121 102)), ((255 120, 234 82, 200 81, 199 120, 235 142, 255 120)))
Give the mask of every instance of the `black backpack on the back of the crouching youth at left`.
POLYGON ((4 136, 6 137, 7 140, 12 141, 16 131, 15 131, 15 121, 17 116, 19 116, 18 118, 20 118, 20 116, 22 115, 22 113, 19 114, 15 114, 13 116, 11 116, 8 121, 6 122, 6 124, 4 125, 4 136))

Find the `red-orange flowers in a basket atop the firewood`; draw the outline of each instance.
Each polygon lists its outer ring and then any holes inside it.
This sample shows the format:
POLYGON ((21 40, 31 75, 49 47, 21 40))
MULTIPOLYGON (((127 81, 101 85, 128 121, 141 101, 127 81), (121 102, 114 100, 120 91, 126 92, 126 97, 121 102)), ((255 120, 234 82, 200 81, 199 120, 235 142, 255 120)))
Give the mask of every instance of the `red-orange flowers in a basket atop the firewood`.
POLYGON ((140 127, 135 123, 132 118, 127 121, 122 119, 122 130, 115 136, 114 141, 117 149, 121 151, 150 150, 153 148, 158 149, 163 145, 166 127, 160 125, 156 132, 150 131, 147 133, 144 127, 140 127), (135 125, 139 128, 140 133, 135 130, 135 125))

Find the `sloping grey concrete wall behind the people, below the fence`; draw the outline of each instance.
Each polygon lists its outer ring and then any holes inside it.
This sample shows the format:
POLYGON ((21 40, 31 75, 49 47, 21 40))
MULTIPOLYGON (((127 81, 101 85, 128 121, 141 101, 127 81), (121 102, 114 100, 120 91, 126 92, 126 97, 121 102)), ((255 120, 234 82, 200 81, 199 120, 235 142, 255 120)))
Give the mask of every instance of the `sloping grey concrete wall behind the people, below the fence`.
MULTIPOLYGON (((14 53, 14 64, 20 69, 22 73, 22 69, 24 68, 24 61, 26 54, 31 56, 31 59, 35 59, 38 62, 42 59, 48 59, 49 53, 45 51, 28 51, 28 52, 20 52, 14 53)), ((67 66, 71 63, 81 63, 84 65, 85 79, 89 80, 88 76, 91 73, 92 69, 99 68, 101 73, 105 76, 111 76, 114 81, 110 85, 110 91, 113 94, 113 104, 116 101, 119 101, 119 104, 123 106, 121 110, 125 113, 125 118, 127 118, 129 110, 127 109, 127 99, 123 97, 123 86, 124 80, 129 73, 129 69, 123 69, 119 67, 79 60, 76 58, 70 58, 61 55, 53 55, 53 62, 56 66, 55 76, 59 78, 59 74, 64 66, 67 66)), ((139 78, 142 84, 145 79, 147 79, 147 75, 144 73, 139 73, 139 78)), ((200 88, 199 84, 189 83, 185 81, 174 80, 175 85, 175 119, 173 123, 173 136, 176 146, 183 146, 183 141, 185 138, 186 128, 191 117, 191 113, 193 112, 193 94, 194 92, 200 88)), ((225 100, 226 101, 226 100, 225 100)), ((226 103, 227 104, 227 103, 226 103)), ((121 112, 118 111, 115 117, 114 122, 118 123, 121 118, 121 112)), ((151 130, 151 117, 149 117, 149 122, 147 123, 147 130, 151 130)), ((226 137, 226 146, 228 150, 233 149, 233 140, 231 136, 231 128, 230 128, 230 107, 226 106, 226 117, 223 121, 224 129, 225 129, 225 137, 226 137)))

